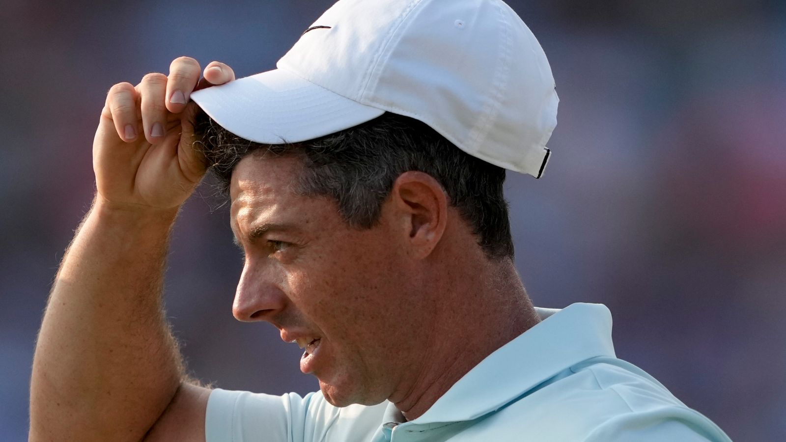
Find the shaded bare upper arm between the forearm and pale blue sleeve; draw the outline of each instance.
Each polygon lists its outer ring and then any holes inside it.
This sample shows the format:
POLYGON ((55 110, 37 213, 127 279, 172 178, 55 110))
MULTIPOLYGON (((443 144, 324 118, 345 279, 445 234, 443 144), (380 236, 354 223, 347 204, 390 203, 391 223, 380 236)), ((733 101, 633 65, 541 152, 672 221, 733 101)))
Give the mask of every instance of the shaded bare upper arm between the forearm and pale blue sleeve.
POLYGON ((145 442, 205 442, 204 422, 210 389, 183 382, 167 409, 145 435, 145 442))

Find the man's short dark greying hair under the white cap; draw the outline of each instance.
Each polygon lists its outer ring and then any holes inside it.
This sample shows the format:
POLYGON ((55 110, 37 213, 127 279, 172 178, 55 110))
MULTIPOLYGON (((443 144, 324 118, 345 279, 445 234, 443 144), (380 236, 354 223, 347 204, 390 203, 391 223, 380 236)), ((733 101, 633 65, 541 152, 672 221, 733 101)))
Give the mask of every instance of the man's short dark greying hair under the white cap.
POLYGON ((432 175, 478 237, 490 259, 513 256, 508 203, 502 194, 505 169, 458 149, 431 127, 386 112, 343 131, 306 142, 267 145, 227 131, 201 110, 194 119, 196 149, 208 159, 226 195, 235 165, 262 150, 303 158, 300 191, 332 197, 352 227, 370 228, 395 179, 406 171, 432 175))

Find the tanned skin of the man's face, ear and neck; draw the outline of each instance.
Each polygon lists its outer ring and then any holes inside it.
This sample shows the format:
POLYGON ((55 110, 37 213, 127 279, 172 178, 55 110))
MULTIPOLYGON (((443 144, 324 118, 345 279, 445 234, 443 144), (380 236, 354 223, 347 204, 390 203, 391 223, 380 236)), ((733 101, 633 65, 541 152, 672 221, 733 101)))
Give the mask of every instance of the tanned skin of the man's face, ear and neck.
POLYGON ((487 260, 431 176, 400 175, 380 222, 358 230, 335 201, 296 192, 301 168, 298 157, 251 155, 233 171, 245 255, 233 313, 285 341, 319 337, 314 375, 333 405, 387 399, 417 418, 537 323, 512 262, 487 260), (265 225, 286 227, 259 234, 265 225))

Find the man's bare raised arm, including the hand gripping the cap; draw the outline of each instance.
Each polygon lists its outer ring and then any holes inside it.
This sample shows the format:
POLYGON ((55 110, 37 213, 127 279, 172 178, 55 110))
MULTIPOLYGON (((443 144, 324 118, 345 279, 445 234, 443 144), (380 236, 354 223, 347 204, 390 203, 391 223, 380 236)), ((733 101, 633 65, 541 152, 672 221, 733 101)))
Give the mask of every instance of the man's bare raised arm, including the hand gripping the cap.
MULTIPOLYGON (((205 70, 211 83, 234 78, 223 64, 208 72, 215 64, 205 70)), ((108 94, 94 141, 96 200, 57 272, 35 348, 30 440, 204 439, 209 390, 183 384, 161 300, 169 232, 205 171, 191 149, 195 105, 169 97, 187 97, 199 75, 182 57, 168 78, 108 94)))

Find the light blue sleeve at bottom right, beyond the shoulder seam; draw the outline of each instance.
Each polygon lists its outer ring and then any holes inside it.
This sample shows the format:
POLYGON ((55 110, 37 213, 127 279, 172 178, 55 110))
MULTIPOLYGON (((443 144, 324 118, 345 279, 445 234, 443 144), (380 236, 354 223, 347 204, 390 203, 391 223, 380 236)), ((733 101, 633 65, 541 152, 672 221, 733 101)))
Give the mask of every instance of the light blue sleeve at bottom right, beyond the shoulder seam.
POLYGON ((681 407, 634 412, 612 418, 593 429, 584 442, 731 442, 702 414, 681 407))

